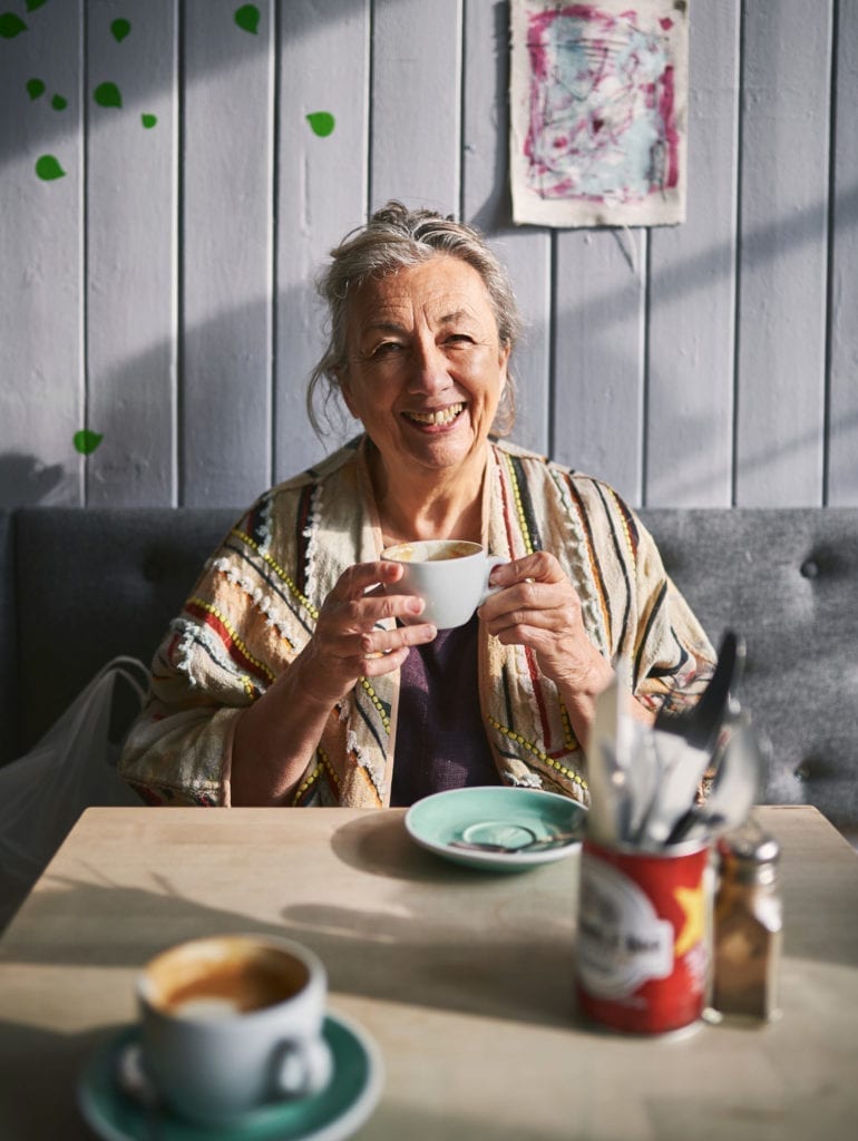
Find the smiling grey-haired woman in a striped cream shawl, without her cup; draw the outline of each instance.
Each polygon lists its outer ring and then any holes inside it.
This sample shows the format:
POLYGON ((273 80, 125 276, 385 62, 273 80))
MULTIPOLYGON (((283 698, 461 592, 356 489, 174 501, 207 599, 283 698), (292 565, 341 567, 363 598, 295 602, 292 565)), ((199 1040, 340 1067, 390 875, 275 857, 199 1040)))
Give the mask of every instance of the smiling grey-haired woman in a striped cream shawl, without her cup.
POLYGON ((478 233, 390 202, 319 289, 310 418, 327 386, 363 434, 262 495, 207 565, 122 774, 159 803, 385 807, 488 784, 586 803, 612 663, 651 719, 696 699, 705 634, 616 492, 497 438, 519 317, 478 233), (381 551, 435 537, 509 559, 450 631, 383 591, 402 567, 381 551))

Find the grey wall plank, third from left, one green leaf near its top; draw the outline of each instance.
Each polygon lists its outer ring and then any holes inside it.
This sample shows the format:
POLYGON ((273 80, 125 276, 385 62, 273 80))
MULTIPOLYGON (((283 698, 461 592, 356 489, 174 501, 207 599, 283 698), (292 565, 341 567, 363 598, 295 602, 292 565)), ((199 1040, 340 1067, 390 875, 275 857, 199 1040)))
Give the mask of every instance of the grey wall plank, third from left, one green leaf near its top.
POLYGON ((186 0, 181 127, 181 499, 245 504, 268 486, 273 3, 186 0))

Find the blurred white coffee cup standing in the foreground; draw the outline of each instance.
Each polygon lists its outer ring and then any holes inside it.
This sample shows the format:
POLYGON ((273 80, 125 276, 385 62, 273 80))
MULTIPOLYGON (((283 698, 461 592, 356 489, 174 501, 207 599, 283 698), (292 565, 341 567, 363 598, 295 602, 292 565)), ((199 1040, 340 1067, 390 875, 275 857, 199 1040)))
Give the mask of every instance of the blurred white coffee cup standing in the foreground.
POLYGON ((209 1125, 317 1093, 332 1073, 326 992, 321 960, 285 939, 171 947, 138 978, 146 1070, 178 1114, 209 1125))

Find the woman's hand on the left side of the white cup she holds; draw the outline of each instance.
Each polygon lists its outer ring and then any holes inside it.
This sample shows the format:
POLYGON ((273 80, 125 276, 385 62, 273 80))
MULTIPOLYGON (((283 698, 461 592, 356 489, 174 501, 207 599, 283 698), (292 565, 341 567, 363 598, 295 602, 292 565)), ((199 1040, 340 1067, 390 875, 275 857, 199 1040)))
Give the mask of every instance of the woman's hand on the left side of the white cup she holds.
POLYGON ((430 642, 431 623, 377 629, 383 618, 413 618, 422 599, 386 594, 383 584, 402 577, 398 563, 358 563, 340 575, 324 600, 316 629, 290 671, 306 699, 330 710, 354 688, 358 678, 374 678, 398 670, 411 646, 430 642), (377 589, 372 589, 377 588, 377 589))

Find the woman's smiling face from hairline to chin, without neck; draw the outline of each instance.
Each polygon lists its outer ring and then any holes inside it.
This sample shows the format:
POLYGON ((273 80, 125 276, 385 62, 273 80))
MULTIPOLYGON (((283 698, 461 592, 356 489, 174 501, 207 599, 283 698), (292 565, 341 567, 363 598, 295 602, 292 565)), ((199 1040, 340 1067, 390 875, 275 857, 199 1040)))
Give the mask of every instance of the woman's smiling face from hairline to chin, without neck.
POLYGON ((509 348, 476 269, 439 254, 366 282, 349 301, 347 337, 342 394, 388 476, 481 461, 509 348))

